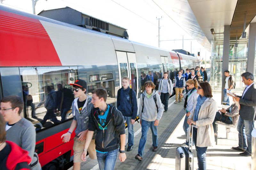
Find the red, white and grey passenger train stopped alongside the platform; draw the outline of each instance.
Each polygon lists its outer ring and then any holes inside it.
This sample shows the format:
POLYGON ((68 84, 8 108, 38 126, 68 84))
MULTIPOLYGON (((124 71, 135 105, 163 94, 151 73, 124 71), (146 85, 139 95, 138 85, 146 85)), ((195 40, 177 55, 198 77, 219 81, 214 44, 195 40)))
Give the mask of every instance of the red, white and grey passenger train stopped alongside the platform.
POLYGON ((73 133, 68 143, 60 139, 70 127, 71 109, 65 120, 61 121, 57 113, 59 122, 48 120, 41 124, 46 114, 47 88, 56 92, 59 85, 71 89, 69 84, 81 78, 87 82, 88 95, 102 87, 108 92, 107 103, 115 104, 124 76, 130 77, 131 88, 139 99, 144 74, 157 83, 156 78, 161 78, 164 71, 199 64, 196 57, 1 5, 0 15, 0 98, 17 95, 24 99, 21 115, 35 125, 35 151, 43 169, 72 162, 74 137, 73 133))

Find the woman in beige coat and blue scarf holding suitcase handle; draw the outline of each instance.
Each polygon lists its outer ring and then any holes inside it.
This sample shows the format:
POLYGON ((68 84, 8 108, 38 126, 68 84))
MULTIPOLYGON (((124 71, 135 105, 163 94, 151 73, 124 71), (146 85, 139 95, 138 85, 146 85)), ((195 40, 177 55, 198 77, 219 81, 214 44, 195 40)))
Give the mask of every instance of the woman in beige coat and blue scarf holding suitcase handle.
POLYGON ((188 117, 188 124, 194 124, 193 141, 196 146, 198 170, 206 170, 206 150, 215 143, 212 122, 216 115, 217 103, 212 99, 209 83, 199 83, 196 90, 199 96, 188 117))

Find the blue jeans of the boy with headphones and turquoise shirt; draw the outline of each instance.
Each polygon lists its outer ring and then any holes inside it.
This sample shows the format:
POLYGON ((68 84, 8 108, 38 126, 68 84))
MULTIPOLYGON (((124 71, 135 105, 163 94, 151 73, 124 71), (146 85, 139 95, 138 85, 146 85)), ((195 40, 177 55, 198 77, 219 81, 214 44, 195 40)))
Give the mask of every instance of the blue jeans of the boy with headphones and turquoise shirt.
POLYGON ((114 170, 116 165, 117 152, 118 149, 108 153, 96 153, 100 170, 114 170))

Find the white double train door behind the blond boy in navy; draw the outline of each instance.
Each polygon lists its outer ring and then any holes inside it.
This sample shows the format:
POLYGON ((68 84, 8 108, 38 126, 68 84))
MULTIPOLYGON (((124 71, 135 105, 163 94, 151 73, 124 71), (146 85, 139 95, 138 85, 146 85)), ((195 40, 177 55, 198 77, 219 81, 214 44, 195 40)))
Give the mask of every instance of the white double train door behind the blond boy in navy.
POLYGON ((136 92, 138 96, 138 68, 135 53, 116 51, 118 71, 119 71, 119 85, 122 87, 122 77, 130 78, 130 88, 136 92))

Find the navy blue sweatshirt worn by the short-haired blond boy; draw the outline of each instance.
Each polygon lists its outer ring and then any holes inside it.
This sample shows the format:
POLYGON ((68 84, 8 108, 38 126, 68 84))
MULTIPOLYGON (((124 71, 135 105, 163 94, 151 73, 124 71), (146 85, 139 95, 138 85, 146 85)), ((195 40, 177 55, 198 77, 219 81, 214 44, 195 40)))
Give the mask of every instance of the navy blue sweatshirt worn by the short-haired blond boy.
POLYGON ((117 102, 116 102, 117 109, 120 112, 122 112, 124 116, 132 117, 132 119, 135 120, 137 116, 137 111, 138 111, 136 92, 132 90, 132 99, 130 99, 130 94, 129 94, 131 90, 130 87, 128 87, 125 90, 122 87, 119 90, 120 90, 120 95, 117 95, 117 102))

